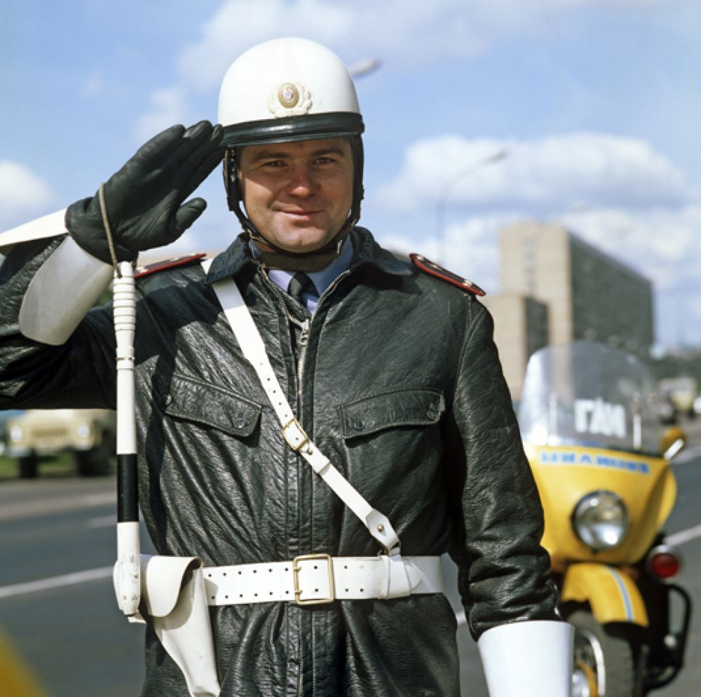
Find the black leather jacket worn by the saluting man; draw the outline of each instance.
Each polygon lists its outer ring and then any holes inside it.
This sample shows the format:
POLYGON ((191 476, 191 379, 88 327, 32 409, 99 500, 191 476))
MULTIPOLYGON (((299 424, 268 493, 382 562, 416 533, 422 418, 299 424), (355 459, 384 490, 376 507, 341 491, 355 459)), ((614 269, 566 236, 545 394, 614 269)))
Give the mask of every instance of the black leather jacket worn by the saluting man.
MULTIPOLYGON (((492 321, 469 292, 353 234, 306 347, 290 299, 240 236, 205 279, 193 263, 138 282, 139 489, 159 553, 206 564, 374 555, 360 521, 285 445, 210 283, 234 276, 307 433, 392 522, 405 555, 449 552, 474 637, 554 619, 542 513, 492 321)), ((0 407, 114 407, 109 307, 63 346, 24 339, 22 295, 58 240, 15 248, 0 280, 0 407)), ((443 595, 313 608, 212 609, 222 696, 456 697, 456 618, 443 595)), ((186 696, 147 634, 145 696, 186 696)))

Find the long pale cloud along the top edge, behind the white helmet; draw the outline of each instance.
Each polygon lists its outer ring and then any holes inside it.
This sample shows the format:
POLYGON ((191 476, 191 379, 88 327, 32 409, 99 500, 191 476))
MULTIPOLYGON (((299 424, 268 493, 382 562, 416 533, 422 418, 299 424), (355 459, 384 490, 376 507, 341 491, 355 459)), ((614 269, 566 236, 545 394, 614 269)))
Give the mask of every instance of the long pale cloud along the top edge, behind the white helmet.
MULTIPOLYGON (((657 8, 680 0, 226 0, 203 25, 199 41, 178 61, 184 83, 218 86, 243 50, 275 36, 304 36, 327 44, 347 61, 378 56, 407 69, 446 57, 472 55, 496 39, 527 29, 552 32, 552 18, 574 8, 657 8), (449 18, 449 21, 446 21, 449 18)), ((682 0, 689 2, 690 0, 682 0)))

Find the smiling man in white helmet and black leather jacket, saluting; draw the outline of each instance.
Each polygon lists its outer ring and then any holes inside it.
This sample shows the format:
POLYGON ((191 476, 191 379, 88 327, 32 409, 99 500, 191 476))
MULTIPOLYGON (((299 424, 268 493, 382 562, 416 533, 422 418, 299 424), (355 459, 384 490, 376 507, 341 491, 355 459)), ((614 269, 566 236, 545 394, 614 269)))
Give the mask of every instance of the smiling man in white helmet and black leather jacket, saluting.
POLYGON ((183 202, 224 158, 244 232, 206 273, 184 259, 141 276, 135 349, 149 534, 229 589, 210 600, 218 684, 186 682, 149 618, 143 695, 458 696, 456 621, 433 577, 447 552, 493 697, 569 694, 491 318, 476 287, 357 226, 363 125, 346 68, 311 41, 263 43, 226 74, 219 121, 156 136, 68 208, 68 236, 15 245, 1 276, 0 405, 114 407, 111 310, 86 311, 114 262, 194 222, 204 201, 183 202), (282 428, 222 313, 215 288, 231 279, 296 417, 282 428), (305 461, 313 447, 334 489, 305 461), (301 581, 317 567, 326 590, 301 581))

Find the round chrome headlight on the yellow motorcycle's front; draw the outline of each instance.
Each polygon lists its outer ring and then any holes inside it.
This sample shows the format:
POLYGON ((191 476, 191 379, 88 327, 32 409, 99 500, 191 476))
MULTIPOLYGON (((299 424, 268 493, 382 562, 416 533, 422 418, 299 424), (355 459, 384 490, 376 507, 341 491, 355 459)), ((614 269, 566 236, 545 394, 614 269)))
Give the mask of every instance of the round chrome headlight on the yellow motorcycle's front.
POLYGON ((613 549, 628 534, 628 511, 618 494, 602 489, 583 497, 572 514, 572 527, 591 550, 613 549))

